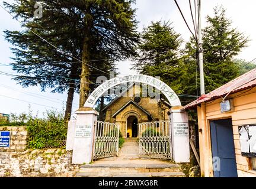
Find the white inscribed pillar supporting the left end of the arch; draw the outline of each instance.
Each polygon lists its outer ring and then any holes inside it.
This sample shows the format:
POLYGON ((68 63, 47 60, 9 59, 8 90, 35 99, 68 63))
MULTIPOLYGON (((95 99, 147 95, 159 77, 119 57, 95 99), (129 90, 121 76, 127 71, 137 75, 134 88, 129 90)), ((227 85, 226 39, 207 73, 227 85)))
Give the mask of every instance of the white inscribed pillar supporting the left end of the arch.
POLYGON ((72 164, 89 164, 92 161, 94 123, 98 112, 91 107, 76 110, 75 134, 73 135, 72 164))

